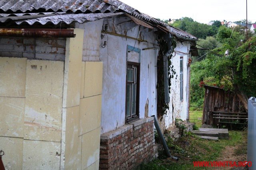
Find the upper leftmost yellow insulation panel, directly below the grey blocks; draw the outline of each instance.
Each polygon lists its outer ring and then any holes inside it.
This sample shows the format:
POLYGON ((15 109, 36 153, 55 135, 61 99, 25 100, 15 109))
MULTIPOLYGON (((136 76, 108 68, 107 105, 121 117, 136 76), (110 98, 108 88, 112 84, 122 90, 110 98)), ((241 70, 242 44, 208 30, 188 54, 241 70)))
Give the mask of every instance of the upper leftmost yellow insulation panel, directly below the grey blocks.
POLYGON ((0 57, 0 96, 25 97, 26 61, 0 57))

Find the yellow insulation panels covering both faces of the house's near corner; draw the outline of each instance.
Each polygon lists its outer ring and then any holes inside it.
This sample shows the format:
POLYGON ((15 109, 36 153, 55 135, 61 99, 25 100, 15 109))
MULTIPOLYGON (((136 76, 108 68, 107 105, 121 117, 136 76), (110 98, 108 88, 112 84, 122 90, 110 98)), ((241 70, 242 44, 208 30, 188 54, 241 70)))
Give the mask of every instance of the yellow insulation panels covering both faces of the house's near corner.
POLYGON ((82 61, 84 29, 65 63, 0 57, 0 150, 6 169, 98 169, 102 62, 82 61))

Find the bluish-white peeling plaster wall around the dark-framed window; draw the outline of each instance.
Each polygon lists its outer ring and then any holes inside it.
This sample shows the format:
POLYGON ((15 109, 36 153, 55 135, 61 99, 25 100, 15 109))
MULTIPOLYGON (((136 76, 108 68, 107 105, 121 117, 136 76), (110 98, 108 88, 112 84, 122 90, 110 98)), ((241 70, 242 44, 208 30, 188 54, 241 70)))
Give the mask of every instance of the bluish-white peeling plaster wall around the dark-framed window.
POLYGON ((138 36, 148 42, 138 42, 134 39, 102 33, 102 43, 106 41, 107 45, 105 48, 100 48, 100 60, 103 61, 101 133, 115 130, 125 123, 127 45, 135 45, 136 48, 141 49, 140 118, 144 118, 147 100, 149 101, 148 116, 156 115, 158 49, 142 51, 143 48, 156 47, 156 35, 152 30, 134 23, 121 23, 124 20, 127 18, 114 18, 114 21, 113 18, 108 18, 104 20, 103 27, 108 24, 106 31, 115 31, 118 34, 135 38, 138 36))

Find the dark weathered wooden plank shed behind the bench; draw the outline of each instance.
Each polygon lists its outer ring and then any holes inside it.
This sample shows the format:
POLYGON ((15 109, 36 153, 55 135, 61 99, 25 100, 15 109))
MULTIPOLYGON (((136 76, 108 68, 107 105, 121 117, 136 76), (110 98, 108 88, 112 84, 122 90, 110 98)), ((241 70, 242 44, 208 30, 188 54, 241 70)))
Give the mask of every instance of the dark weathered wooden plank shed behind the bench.
POLYGON ((218 125, 218 119, 213 119, 213 111, 246 112, 244 105, 234 92, 225 92, 222 88, 213 86, 204 86, 204 88, 205 94, 202 124, 218 125))

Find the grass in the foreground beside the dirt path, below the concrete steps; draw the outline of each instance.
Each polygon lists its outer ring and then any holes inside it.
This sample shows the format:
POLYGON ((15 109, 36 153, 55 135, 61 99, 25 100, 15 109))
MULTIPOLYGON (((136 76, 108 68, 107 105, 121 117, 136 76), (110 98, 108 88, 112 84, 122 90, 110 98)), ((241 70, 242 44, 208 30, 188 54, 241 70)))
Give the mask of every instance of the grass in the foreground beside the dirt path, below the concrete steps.
MULTIPOLYGON (((172 146, 171 154, 180 158, 178 162, 170 158, 156 159, 143 164, 140 170, 195 170, 206 169, 194 167, 193 161, 215 161, 222 155, 225 147, 239 146, 235 154, 246 154, 247 131, 229 131, 228 140, 208 141, 193 135, 182 137, 178 142, 167 141, 172 146), (186 142, 185 142, 186 141, 186 142), (172 143, 172 144, 170 144, 172 143), (189 145, 188 145, 189 143, 189 145), (174 147, 176 146, 176 147, 174 147)), ((228 161, 228 160, 227 160, 228 161)), ((241 160, 242 161, 242 160, 241 160)))

